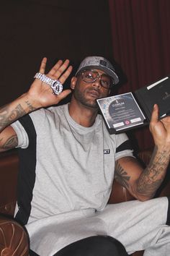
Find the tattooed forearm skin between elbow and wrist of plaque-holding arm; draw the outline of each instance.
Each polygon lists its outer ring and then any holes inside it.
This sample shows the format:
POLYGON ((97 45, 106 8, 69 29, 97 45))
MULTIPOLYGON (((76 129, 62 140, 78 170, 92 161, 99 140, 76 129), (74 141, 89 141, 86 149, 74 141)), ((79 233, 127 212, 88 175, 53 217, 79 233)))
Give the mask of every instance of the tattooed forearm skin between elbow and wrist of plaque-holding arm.
POLYGON ((155 148, 149 165, 138 179, 137 192, 140 195, 153 197, 164 180, 168 164, 169 155, 167 152, 158 153, 157 148, 155 148))

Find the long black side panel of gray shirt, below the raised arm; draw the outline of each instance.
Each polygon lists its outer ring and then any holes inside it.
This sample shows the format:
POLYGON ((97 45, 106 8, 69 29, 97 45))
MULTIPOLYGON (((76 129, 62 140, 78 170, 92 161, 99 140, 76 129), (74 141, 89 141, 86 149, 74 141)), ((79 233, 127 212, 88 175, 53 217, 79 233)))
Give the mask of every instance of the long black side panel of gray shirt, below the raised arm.
POLYGON ((32 191, 35 186, 37 135, 32 119, 27 114, 19 119, 29 137, 28 148, 19 148, 19 176, 17 186, 17 204, 19 210, 15 218, 23 225, 27 224, 31 211, 32 191))

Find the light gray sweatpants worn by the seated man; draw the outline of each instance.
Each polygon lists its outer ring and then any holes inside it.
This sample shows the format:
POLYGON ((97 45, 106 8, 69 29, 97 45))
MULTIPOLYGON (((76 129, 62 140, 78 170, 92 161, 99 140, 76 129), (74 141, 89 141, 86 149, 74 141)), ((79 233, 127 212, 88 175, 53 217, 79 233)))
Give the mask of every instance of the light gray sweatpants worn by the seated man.
POLYGON ((109 235, 122 242, 128 254, 145 249, 145 256, 169 256, 168 208, 167 197, 160 197, 107 205, 96 213, 89 209, 66 213, 61 219, 53 216, 53 220, 40 220, 27 226, 31 249, 41 256, 50 256, 80 239, 109 235))

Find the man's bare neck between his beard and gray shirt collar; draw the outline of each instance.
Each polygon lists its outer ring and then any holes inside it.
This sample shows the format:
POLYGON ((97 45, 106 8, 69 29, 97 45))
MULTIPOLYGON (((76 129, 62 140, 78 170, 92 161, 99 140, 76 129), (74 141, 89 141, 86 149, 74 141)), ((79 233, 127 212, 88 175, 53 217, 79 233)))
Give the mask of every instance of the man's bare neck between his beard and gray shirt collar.
POLYGON ((83 106, 77 101, 71 101, 68 105, 68 111, 71 118, 83 127, 91 127, 97 117, 97 108, 83 106))

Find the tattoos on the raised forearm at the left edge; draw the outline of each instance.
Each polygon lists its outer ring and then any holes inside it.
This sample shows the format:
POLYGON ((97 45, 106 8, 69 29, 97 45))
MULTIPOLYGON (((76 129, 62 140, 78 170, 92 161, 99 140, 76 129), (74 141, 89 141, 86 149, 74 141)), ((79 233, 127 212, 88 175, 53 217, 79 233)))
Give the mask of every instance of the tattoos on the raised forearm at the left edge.
POLYGON ((0 131, 9 124, 12 124, 13 121, 19 119, 19 117, 24 116, 24 114, 26 112, 20 104, 13 110, 10 110, 8 105, 0 108, 0 131))

